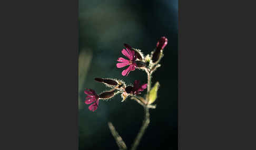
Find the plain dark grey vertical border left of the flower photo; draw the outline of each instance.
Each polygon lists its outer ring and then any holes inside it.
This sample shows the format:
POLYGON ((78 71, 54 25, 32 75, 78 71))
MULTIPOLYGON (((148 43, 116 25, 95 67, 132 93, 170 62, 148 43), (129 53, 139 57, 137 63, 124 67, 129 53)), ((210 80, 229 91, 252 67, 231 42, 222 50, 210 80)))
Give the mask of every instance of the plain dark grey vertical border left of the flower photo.
POLYGON ((78 0, 1 10, 0 149, 78 149, 78 0))

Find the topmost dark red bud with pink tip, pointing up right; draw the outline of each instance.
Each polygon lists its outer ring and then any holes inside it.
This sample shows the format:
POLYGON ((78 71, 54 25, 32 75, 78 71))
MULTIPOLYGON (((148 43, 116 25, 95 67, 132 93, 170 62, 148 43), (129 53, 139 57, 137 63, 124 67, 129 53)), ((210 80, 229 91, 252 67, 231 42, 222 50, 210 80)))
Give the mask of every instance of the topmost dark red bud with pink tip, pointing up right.
POLYGON ((156 49, 152 56, 152 62, 156 62, 161 57, 161 50, 167 45, 168 39, 165 37, 161 37, 160 40, 156 44, 156 49))

